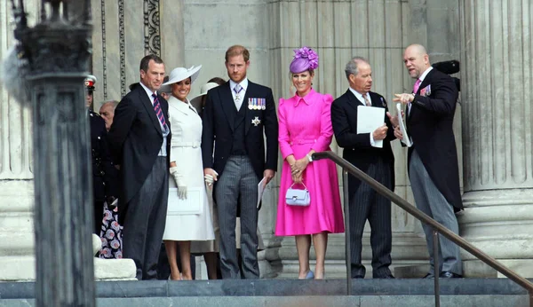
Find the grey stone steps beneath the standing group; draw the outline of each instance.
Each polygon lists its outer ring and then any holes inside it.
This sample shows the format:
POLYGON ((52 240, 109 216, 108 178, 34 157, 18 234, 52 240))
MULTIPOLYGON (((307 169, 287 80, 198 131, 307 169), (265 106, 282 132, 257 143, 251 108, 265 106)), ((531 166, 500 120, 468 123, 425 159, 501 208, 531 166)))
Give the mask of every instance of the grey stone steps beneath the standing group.
MULTIPOLYGON (((0 283, 0 307, 33 306, 35 284, 0 283)), ((428 279, 99 281, 97 306, 434 306, 428 279)), ((527 292, 509 279, 441 279, 441 306, 529 306, 527 292)))

